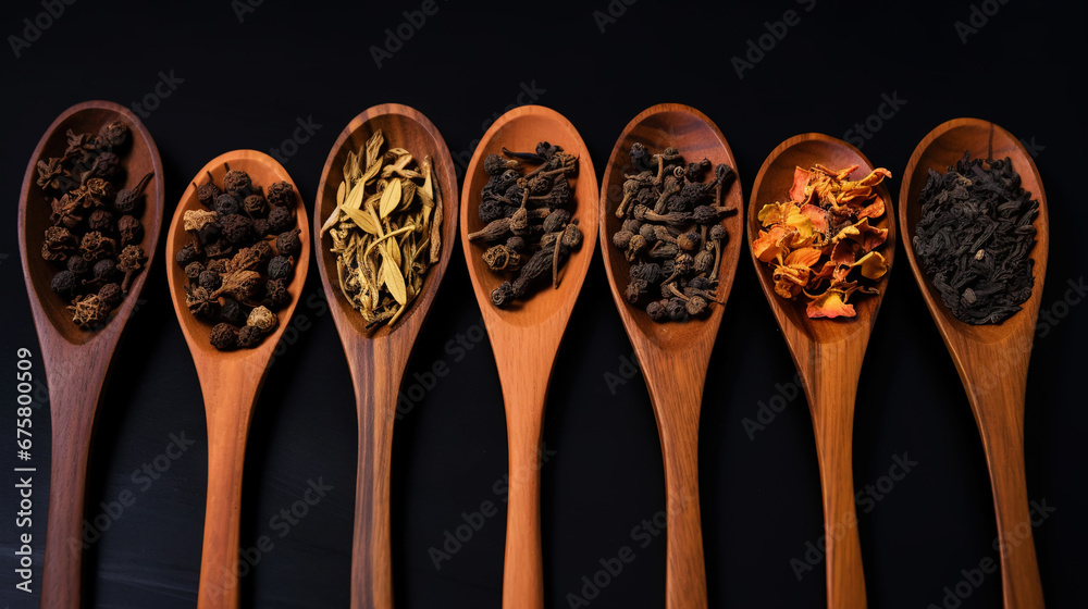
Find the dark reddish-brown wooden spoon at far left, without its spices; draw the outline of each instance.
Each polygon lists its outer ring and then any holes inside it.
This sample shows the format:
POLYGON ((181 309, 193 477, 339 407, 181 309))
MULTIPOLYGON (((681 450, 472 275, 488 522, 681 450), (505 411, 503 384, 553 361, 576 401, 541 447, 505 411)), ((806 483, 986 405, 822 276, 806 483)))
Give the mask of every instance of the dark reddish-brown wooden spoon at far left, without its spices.
POLYGON ((109 101, 87 101, 61 113, 41 137, 26 167, 18 200, 18 248, 23 253, 23 276, 49 381, 52 422, 42 607, 79 607, 83 511, 95 413, 113 351, 154 261, 162 227, 163 192, 162 162, 151 134, 128 109, 109 101), (126 123, 132 136, 128 151, 121 156, 124 181, 119 181, 119 189, 133 188, 144 175, 154 174, 144 189, 145 209, 140 216, 144 238, 139 245, 147 253, 147 262, 106 325, 85 332, 72 323, 72 312, 65 308, 67 302, 50 288, 59 268, 41 258, 45 232, 51 226, 51 209, 49 198, 37 185, 37 162, 64 153, 67 147, 64 134, 69 129, 77 134, 97 134, 102 125, 113 121, 126 123))

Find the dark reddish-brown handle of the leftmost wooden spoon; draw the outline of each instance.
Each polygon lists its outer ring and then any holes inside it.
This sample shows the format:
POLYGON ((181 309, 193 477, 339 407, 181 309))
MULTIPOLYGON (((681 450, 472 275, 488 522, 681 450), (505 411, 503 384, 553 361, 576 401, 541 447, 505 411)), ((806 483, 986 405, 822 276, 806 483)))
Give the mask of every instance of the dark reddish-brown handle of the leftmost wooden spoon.
MULTIPOLYGON (((102 358, 107 359, 107 358, 102 358)), ((46 555, 41 606, 77 609, 83 566, 83 519, 87 488, 87 460, 95 410, 106 371, 79 377, 78 371, 57 362, 47 365, 49 410, 52 423, 52 455, 49 474, 49 518, 46 524, 46 555), (88 390, 89 389, 89 390, 88 390)), ((30 477, 27 472, 17 478, 30 477)))

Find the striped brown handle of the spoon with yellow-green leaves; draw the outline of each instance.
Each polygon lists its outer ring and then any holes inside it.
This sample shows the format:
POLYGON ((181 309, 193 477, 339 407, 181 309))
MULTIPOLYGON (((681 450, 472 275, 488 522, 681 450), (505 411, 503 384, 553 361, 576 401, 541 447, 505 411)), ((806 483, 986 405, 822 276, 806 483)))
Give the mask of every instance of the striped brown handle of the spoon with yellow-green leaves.
POLYGON ((351 609, 393 609, 390 478, 393 423, 408 353, 391 357, 385 343, 370 341, 349 358, 359 417, 355 533, 351 543, 351 609), (381 362, 375 366, 375 362, 381 362), (378 370, 375 370, 375 368, 378 370))

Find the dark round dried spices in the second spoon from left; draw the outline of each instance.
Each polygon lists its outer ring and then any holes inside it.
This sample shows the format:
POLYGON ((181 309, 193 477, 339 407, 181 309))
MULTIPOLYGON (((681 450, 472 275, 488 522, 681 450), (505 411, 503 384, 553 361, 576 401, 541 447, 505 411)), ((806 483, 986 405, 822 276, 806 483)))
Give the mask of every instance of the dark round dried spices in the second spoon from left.
POLYGON ((197 188, 206 209, 185 212, 189 244, 174 257, 189 279, 186 307, 215 324, 211 344, 224 351, 257 347, 280 325, 275 311, 290 303, 287 286, 302 250, 290 183, 270 185, 265 196, 249 174, 226 170, 222 188, 211 173, 197 188))

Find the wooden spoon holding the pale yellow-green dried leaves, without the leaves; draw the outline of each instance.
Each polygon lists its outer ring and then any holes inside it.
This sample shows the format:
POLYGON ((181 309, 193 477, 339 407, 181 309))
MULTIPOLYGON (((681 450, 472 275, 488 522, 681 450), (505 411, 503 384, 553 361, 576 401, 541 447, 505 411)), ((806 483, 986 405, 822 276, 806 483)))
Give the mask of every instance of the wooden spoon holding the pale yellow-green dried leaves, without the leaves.
POLYGON ((313 243, 321 283, 329 301, 355 385, 359 415, 359 470, 356 485, 355 538, 351 547, 351 607, 393 608, 390 547, 390 463, 397 394, 416 337, 446 272, 457 236, 457 179, 454 162, 438 129, 426 116, 398 103, 370 108, 348 123, 333 145, 321 173, 313 211, 313 243), (393 325, 368 330, 362 316, 341 294, 332 239, 321 226, 336 208, 348 152, 358 152, 376 129, 388 148, 404 148, 417 161, 431 157, 435 188, 442 195, 442 254, 428 270, 423 288, 393 325))

